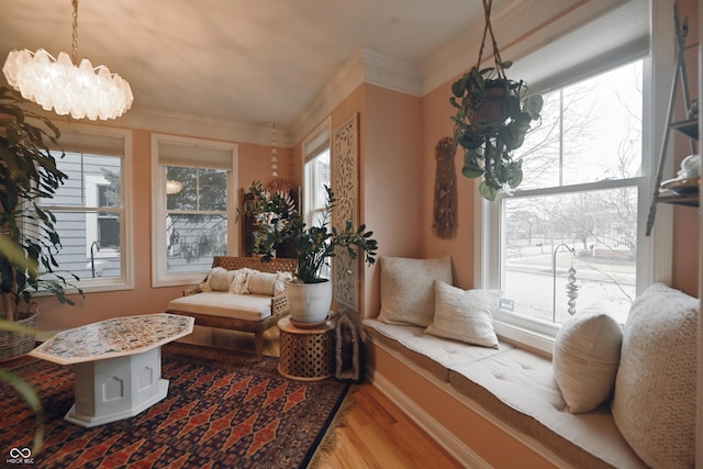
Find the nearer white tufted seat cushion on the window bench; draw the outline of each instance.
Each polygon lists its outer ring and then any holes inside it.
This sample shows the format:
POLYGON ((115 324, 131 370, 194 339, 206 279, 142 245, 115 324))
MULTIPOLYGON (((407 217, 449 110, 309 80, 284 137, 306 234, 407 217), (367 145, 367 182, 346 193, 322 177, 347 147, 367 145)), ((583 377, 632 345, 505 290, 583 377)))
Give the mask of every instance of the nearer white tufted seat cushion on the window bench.
POLYGON ((548 358, 514 348, 464 364, 449 373, 449 382, 574 467, 645 467, 607 405, 581 414, 567 411, 548 358))

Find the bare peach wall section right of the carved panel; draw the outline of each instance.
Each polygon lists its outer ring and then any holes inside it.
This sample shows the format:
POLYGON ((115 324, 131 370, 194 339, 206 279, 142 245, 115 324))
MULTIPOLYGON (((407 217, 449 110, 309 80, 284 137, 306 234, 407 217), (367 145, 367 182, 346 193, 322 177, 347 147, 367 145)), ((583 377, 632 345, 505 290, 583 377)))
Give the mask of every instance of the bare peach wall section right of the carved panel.
MULTIPOLYGON (((422 100, 365 85, 361 122, 361 214, 379 254, 422 257, 422 100)), ((378 264, 364 278, 361 316, 380 310, 378 264)))

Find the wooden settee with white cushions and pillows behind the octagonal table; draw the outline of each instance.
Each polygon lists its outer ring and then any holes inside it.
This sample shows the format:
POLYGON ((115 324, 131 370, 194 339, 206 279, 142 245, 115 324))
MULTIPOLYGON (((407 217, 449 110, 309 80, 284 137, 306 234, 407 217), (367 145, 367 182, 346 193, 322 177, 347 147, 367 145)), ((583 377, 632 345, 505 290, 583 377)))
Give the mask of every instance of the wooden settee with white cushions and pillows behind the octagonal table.
POLYGON ((215 256, 212 269, 194 289, 168 303, 168 312, 196 319, 197 325, 254 333, 257 359, 264 332, 288 313, 286 286, 297 259, 215 256))

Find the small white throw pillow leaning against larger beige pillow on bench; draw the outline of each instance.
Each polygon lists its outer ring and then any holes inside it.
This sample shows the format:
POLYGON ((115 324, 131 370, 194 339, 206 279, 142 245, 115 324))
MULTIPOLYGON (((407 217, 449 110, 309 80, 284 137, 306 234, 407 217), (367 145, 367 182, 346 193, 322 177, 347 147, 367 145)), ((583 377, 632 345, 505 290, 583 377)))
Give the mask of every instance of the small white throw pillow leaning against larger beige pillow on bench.
POLYGON ((427 334, 498 348, 493 312, 501 300, 499 290, 461 290, 435 281, 435 317, 427 334))

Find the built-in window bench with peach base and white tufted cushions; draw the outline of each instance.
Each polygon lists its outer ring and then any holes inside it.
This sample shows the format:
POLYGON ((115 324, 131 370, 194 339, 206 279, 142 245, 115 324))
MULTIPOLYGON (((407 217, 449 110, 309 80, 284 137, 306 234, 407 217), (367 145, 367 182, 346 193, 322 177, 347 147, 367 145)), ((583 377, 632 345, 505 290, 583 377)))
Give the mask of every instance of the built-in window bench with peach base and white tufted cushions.
POLYGON ((364 331, 375 384, 425 418, 419 424, 464 464, 647 467, 609 404, 582 414, 566 410, 548 358, 504 342, 499 349, 479 347, 376 319, 365 320, 364 331))

